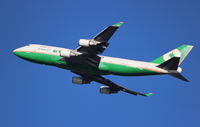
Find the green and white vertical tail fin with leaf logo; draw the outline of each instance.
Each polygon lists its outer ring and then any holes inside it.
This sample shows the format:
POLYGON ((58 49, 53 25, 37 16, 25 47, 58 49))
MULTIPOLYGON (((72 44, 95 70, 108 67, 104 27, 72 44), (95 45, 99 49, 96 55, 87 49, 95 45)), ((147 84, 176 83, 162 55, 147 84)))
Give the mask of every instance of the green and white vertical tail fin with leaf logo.
POLYGON ((164 54, 163 56, 151 61, 152 63, 162 64, 163 62, 173 58, 173 57, 180 57, 179 65, 183 62, 186 58, 188 53, 192 50, 192 45, 181 45, 180 47, 164 54))

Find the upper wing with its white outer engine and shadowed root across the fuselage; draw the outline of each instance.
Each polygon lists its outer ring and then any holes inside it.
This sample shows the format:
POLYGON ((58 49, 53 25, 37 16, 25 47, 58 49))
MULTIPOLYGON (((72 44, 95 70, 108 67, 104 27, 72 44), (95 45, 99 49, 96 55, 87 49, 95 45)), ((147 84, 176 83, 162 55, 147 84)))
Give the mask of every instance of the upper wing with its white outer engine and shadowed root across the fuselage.
POLYGON ((63 58, 60 60, 67 61, 68 63, 87 64, 94 68, 98 68, 101 60, 98 54, 103 53, 103 51, 108 47, 108 40, 122 24, 124 23, 119 22, 111 25, 92 39, 80 39, 79 45, 82 46, 79 46, 77 49, 75 49, 75 55, 71 56, 70 58, 63 56, 63 58), (80 54, 76 55, 76 51, 78 51, 80 54))

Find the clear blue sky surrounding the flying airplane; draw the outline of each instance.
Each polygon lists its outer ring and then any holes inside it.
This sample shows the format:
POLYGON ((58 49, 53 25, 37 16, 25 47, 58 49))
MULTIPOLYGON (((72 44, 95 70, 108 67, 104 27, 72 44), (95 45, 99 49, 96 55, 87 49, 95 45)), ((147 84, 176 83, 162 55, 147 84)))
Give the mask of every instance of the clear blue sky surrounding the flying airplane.
POLYGON ((1 127, 198 127, 198 0, 1 0, 1 127), (74 49, 108 25, 125 24, 103 55, 151 61, 182 44, 195 48, 182 64, 185 83, 170 76, 112 81, 151 97, 100 94, 77 86, 67 70, 23 61, 12 50, 29 43, 74 49))

